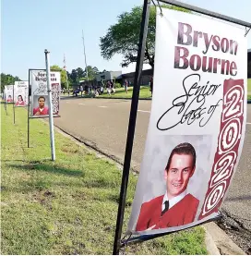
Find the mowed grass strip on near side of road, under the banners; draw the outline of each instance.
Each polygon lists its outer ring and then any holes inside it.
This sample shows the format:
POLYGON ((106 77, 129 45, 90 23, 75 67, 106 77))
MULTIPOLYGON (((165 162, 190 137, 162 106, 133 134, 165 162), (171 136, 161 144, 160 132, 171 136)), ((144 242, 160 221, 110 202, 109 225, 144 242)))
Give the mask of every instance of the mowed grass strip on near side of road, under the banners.
MULTIPOLYGON (((110 161, 55 133, 27 111, 2 105, 2 254, 112 254, 121 171, 110 161)), ((125 226, 137 177, 131 175, 125 226)), ((206 254, 204 229, 196 227, 127 246, 125 254, 206 254)))

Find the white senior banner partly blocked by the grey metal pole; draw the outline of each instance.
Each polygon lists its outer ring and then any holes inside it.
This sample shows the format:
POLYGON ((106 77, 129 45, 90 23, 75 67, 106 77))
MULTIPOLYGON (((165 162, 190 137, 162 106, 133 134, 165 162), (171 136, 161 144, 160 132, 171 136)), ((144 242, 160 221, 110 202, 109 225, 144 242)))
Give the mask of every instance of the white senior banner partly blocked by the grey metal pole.
MULTIPOLYGON (((59 100, 61 92, 60 72, 51 72, 53 96, 53 113, 59 115, 59 100)), ((45 70, 30 69, 31 108, 30 117, 49 116, 49 95, 45 70)))

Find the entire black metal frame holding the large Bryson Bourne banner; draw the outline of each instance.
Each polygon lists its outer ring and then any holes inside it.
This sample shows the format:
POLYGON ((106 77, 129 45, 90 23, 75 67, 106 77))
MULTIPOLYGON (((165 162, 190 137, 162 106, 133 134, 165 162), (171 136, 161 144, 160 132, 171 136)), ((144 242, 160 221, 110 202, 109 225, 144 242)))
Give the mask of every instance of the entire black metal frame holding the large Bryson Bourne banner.
MULTIPOLYGON (((145 46, 146 46, 146 39, 147 39, 147 32, 148 32, 150 1, 151 0, 144 0, 143 12, 142 12, 142 20, 141 20, 138 52, 137 52, 137 66, 136 66, 135 79, 134 79, 134 89, 133 89, 133 96, 132 96, 132 103, 131 103, 131 110, 130 110, 130 118, 129 118, 128 130, 127 130, 123 177, 122 177, 122 183, 121 183, 121 189, 120 189, 120 199, 119 199, 119 206, 118 206, 118 213, 117 213, 116 230, 115 230, 115 236, 114 236, 114 251, 113 251, 114 255, 118 255, 120 248, 122 246, 125 246, 125 243, 124 244, 121 243, 120 239, 122 234, 122 225, 123 225, 124 213, 125 213, 126 190, 127 190, 127 184, 128 184, 133 140, 134 140, 134 134, 135 134, 136 118, 137 118, 138 94, 140 89, 139 78, 140 78, 140 74, 143 67, 143 60, 145 55, 145 46)), ((187 5, 182 2, 178 2, 176 0, 160 0, 160 2, 173 5, 173 6, 183 7, 185 9, 195 11, 200 14, 204 14, 213 18, 220 18, 222 20, 226 20, 238 25, 245 26, 246 28, 251 28, 251 23, 242 21, 237 18, 231 18, 215 12, 211 12, 209 10, 199 8, 197 6, 187 5)), ((245 32, 245 35, 247 34, 247 32, 245 32)), ((211 219, 210 221, 213 221, 213 219, 211 219)), ((145 236, 146 238, 144 238, 144 240, 157 238, 158 236, 160 237, 161 235, 163 236, 163 234, 145 236)), ((137 241, 138 240, 139 239, 137 238, 137 241)))

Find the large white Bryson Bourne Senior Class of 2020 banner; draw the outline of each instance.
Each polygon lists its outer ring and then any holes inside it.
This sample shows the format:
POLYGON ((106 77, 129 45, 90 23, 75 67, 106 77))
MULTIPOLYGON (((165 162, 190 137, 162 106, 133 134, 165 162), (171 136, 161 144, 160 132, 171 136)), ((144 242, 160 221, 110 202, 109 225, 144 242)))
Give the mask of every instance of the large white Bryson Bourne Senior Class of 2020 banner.
POLYGON ((219 215, 245 136, 245 30, 162 8, 153 100, 128 233, 158 234, 219 215))

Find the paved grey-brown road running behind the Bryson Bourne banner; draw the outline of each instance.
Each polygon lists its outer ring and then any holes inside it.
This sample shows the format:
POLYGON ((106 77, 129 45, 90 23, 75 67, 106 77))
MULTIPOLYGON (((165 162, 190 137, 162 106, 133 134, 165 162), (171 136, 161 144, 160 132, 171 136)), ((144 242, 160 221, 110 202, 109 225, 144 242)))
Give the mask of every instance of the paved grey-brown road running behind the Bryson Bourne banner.
MULTIPOLYGON (((132 156, 132 166, 137 170, 145 147, 150 105, 151 101, 139 101, 138 104, 132 156)), ((88 141, 93 147, 123 163, 130 101, 70 98, 62 100, 60 107, 62 117, 54 119, 57 127, 88 141)), ((251 104, 247 105, 247 112, 242 157, 222 210, 225 216, 223 227, 248 252, 251 248, 251 104)))

